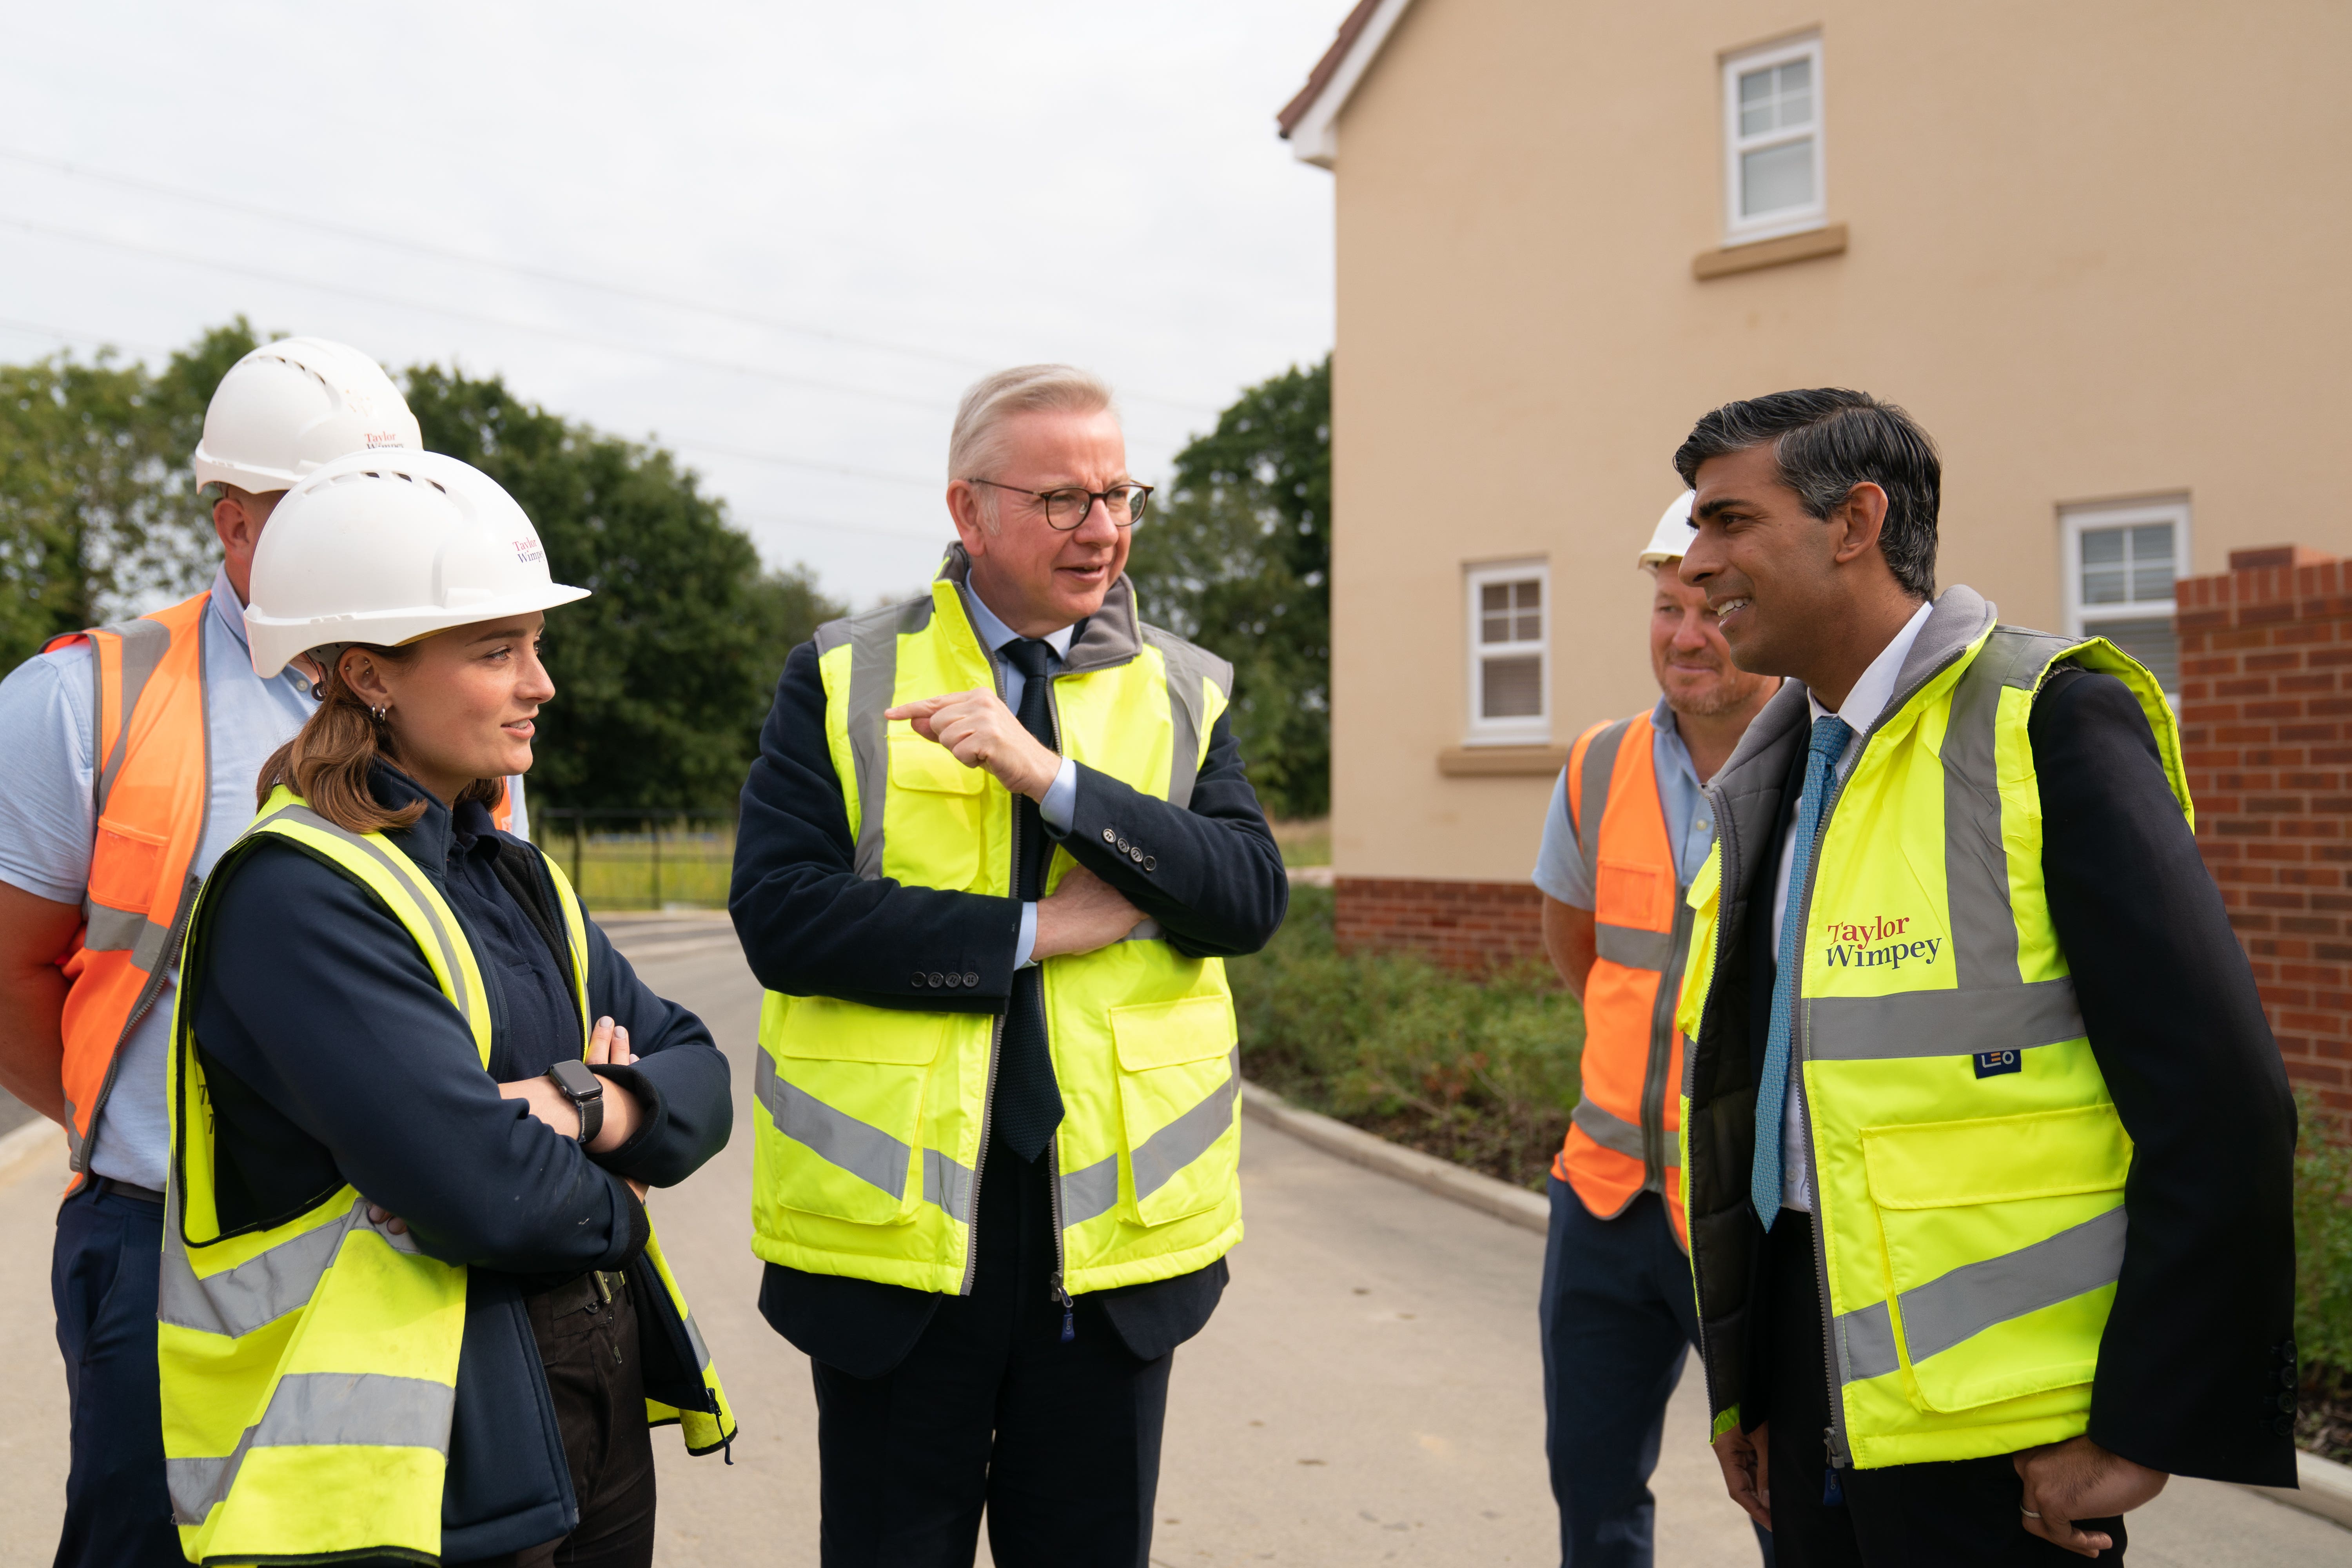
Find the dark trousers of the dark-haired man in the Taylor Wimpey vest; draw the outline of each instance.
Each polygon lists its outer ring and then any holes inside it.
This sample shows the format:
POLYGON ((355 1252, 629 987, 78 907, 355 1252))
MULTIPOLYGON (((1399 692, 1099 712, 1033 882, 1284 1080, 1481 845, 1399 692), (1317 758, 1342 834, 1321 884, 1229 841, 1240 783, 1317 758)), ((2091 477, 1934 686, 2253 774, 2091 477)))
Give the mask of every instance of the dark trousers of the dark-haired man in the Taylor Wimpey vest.
MULTIPOLYGON (((1950 1465, 1889 1465, 1837 1472, 1844 1502, 1825 1505, 1830 1465, 1830 1380, 1820 1342, 1820 1281, 1813 1272, 1813 1215, 1783 1208, 1766 1241, 1771 1319, 1771 1528, 1783 1568, 1976 1568, 1980 1563, 2084 1563, 2027 1535, 2018 1514, 2025 1488, 2009 1455, 1950 1465)), ((2077 1519, 2124 1561, 2122 1519, 2077 1519)))

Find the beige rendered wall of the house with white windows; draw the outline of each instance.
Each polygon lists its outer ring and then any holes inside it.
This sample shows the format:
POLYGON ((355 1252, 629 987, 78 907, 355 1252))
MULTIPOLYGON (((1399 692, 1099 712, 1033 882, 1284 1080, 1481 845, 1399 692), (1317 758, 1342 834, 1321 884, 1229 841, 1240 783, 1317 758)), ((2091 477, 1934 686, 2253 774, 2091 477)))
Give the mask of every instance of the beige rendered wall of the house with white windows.
POLYGON ((2352 552, 2352 7, 1418 0, 1338 118, 1334 863, 1524 882, 1550 778, 1456 778, 1465 564, 1543 557, 1552 743, 1646 708, 1705 409, 1905 404, 1943 583, 2063 616, 2058 508, 2185 491, 2183 576, 2352 552), (1724 244, 1719 56, 1823 38, 1844 254, 1724 244))

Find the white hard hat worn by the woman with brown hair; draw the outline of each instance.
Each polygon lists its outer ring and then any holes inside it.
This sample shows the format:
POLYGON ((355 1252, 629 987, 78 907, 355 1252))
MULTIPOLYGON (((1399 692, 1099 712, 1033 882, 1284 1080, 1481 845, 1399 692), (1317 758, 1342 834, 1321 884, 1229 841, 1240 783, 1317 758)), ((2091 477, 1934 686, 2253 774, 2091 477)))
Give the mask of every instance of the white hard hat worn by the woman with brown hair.
POLYGON ((539 529, 480 468, 437 451, 353 451, 270 512, 245 644, 278 675, 329 642, 397 646, 452 625, 586 599, 548 576, 539 529))

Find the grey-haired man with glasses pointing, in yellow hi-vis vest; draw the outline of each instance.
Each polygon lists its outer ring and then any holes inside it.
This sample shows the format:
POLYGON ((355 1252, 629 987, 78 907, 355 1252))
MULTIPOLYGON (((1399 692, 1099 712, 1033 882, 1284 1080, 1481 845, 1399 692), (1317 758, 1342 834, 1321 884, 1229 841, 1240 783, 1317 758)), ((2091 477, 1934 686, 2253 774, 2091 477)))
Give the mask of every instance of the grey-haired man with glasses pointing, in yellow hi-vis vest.
POLYGON ((1242 1239, 1223 959, 1289 884, 1225 661, 1138 616, 1110 390, 974 386, 929 590, 793 649, 729 907, 760 1309, 814 1361, 823 1561, 1141 1566, 1176 1345, 1242 1239))

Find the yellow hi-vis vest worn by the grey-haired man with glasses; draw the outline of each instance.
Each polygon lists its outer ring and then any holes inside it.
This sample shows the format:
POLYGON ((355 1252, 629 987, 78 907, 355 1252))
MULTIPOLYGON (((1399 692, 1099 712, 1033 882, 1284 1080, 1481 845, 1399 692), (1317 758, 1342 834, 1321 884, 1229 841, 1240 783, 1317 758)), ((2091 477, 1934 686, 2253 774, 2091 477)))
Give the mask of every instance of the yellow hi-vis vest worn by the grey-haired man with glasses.
MULTIPOLYGON (((985 769, 882 719, 894 703, 997 686, 964 611, 964 574, 957 548, 927 597, 818 630, 826 738, 861 877, 1007 898, 1014 797, 985 769)), ((1120 578, 1051 677, 1061 752, 1185 804, 1230 686, 1223 661, 1141 625, 1120 578)), ((1047 889, 1073 865, 1056 849, 1047 889)), ((1242 1239, 1225 966, 1152 933, 1145 922, 1110 947, 1044 959, 1063 1103, 1049 1145, 1056 1284, 1070 1295, 1188 1274, 1242 1239)), ((967 1293, 1000 1037, 990 1013, 769 992, 753 1251, 811 1274, 967 1293)))

